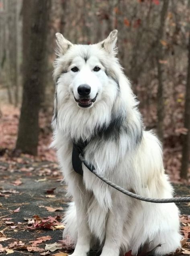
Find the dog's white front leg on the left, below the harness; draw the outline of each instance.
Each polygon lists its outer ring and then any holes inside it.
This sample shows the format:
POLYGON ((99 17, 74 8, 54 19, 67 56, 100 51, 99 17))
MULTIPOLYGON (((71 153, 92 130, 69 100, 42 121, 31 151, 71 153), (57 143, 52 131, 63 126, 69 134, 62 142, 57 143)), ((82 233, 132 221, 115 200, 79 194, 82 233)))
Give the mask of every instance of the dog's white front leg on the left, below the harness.
POLYGON ((78 239, 76 248, 72 256, 87 256, 90 251, 90 229, 88 227, 88 219, 87 219, 87 201, 88 196, 86 195, 86 191, 84 191, 84 185, 80 184, 79 189, 75 190, 73 195, 74 202, 76 205, 76 215, 77 215, 77 223, 78 223, 78 239))

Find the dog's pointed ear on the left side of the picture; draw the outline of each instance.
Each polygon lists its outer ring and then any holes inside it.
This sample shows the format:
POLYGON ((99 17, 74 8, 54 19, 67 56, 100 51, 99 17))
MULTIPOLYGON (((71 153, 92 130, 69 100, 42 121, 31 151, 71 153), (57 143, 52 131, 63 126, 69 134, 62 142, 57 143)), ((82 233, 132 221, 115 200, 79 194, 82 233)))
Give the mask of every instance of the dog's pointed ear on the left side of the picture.
POLYGON ((63 37, 63 35, 60 33, 56 33, 55 36, 56 36, 56 43, 57 43, 57 48, 55 49, 55 54, 60 57, 61 55, 65 54, 65 52, 73 44, 70 41, 68 41, 67 39, 65 39, 65 37, 63 37))

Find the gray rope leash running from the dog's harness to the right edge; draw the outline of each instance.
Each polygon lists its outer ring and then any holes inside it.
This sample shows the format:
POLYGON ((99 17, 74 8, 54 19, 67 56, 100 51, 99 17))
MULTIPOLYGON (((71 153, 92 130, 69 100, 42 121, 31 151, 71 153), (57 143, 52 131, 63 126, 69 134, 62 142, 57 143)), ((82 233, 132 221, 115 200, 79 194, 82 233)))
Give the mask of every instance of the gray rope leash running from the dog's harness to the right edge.
POLYGON ((84 165, 92 172, 94 173, 94 175, 96 175, 100 180, 102 180, 103 182, 105 182, 106 184, 108 184, 109 186, 111 186, 112 188, 115 188, 116 190, 120 191, 121 193, 127 195, 127 196, 131 196, 135 199, 141 200, 141 201, 145 201, 145 202, 154 202, 154 203, 171 203, 171 202, 190 202, 190 197, 186 196, 186 197, 175 197, 175 198, 149 198, 149 197, 143 197, 137 194, 134 194, 132 192, 129 192, 128 190, 125 190, 124 188, 121 188, 120 186, 114 184, 113 182, 111 182, 110 180, 106 179, 103 175, 97 173, 97 171, 90 167, 84 157, 80 154, 79 155, 80 160, 82 161, 82 163, 84 163, 84 165))

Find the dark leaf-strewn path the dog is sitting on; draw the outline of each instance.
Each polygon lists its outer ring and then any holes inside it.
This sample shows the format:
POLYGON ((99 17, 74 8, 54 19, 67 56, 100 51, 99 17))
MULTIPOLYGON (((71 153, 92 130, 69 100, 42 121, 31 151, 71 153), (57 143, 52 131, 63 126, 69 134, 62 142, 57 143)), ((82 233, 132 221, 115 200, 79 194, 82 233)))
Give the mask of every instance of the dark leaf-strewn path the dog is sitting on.
MULTIPOLYGON (((62 240, 61 218, 69 199, 61 180, 57 163, 21 157, 0 161, 0 250, 6 248, 0 254, 61 256, 72 252, 62 240)), ((174 187, 176 196, 190 195, 190 186, 174 187)), ((190 215, 188 204, 178 206, 181 214, 190 215)))

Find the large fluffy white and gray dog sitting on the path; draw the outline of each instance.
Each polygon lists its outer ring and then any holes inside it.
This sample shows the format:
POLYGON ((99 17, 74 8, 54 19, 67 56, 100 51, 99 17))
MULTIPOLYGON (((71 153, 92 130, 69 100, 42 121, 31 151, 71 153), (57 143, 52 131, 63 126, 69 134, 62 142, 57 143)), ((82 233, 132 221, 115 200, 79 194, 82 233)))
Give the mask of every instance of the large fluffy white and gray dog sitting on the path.
MULTIPOLYGON (((102 42, 76 45, 56 34, 58 58, 53 147, 74 202, 65 215, 76 244, 73 256, 98 246, 101 256, 119 256, 143 247, 155 254, 180 247, 174 203, 142 202, 106 185, 81 162, 72 164, 74 145, 108 180, 145 197, 171 198, 161 145, 143 129, 137 100, 116 56, 117 31, 102 42), (78 173, 77 169, 82 169, 78 173), (161 245, 158 247, 158 245, 161 245)), ((77 159, 76 159, 77 160, 77 159)))

